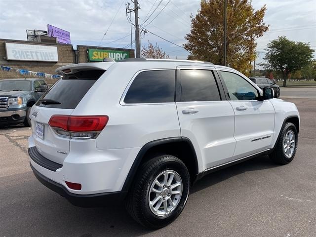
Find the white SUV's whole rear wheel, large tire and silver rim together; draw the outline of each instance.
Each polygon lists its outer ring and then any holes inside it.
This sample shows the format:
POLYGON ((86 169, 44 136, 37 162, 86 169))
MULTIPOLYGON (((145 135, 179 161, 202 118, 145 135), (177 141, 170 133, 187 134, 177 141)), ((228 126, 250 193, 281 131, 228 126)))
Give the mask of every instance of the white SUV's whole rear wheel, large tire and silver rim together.
POLYGON ((190 175, 182 160, 158 156, 139 169, 126 198, 126 209, 143 226, 162 228, 180 215, 189 190, 190 175))

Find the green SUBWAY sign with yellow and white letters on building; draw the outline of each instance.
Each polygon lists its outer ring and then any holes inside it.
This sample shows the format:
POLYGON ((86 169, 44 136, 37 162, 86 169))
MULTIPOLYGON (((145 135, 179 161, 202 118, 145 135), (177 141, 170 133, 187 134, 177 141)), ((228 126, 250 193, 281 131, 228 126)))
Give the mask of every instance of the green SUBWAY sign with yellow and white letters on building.
POLYGON ((115 61, 129 58, 128 51, 88 49, 89 62, 102 62, 104 58, 112 58, 115 61))

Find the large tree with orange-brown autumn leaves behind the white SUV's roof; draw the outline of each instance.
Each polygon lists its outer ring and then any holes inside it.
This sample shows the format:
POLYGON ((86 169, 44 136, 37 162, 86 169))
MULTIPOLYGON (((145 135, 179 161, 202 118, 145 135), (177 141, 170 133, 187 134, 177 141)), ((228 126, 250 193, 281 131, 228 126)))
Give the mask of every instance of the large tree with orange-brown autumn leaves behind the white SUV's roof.
MULTIPOLYGON (((255 59, 255 40, 268 30, 263 22, 266 6, 255 11, 251 0, 227 0, 227 64, 248 75, 255 59)), ((183 46, 188 59, 224 64, 224 1, 201 0, 191 15, 191 32, 183 46)))

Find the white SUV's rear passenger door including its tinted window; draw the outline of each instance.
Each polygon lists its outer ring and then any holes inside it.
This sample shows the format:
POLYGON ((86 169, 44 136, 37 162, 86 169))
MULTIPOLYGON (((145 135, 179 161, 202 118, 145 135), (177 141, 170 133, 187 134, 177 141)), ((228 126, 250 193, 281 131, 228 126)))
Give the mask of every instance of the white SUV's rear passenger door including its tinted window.
POLYGON ((221 99, 224 90, 214 68, 178 68, 176 94, 181 136, 195 147, 199 171, 230 161, 236 145, 235 114, 221 99))

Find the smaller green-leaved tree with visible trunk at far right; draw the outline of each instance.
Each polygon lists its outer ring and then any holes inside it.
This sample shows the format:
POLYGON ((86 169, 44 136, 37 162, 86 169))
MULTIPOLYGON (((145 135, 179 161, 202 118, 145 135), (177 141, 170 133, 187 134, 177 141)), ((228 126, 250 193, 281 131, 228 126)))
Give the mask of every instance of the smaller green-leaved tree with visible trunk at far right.
POLYGON ((264 67, 280 72, 283 76, 283 87, 290 74, 308 66, 312 62, 314 50, 309 43, 288 40, 278 37, 267 44, 264 67))

